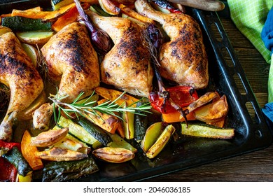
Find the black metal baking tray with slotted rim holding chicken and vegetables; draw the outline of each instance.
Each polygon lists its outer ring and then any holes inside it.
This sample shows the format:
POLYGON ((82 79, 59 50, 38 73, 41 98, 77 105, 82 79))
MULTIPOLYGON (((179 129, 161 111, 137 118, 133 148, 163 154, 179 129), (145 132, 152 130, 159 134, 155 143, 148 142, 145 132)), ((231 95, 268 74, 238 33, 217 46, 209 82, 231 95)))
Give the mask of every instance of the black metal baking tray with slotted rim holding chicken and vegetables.
MULTIPOLYGON (((74 181, 147 180, 155 176, 257 151, 272 144, 272 134, 218 14, 195 8, 188 8, 187 12, 200 24, 209 56, 210 80, 204 92, 217 90, 220 94, 227 96, 229 104, 227 126, 235 128, 235 137, 220 140, 180 135, 178 139, 169 141, 164 150, 153 160, 146 158, 139 148, 139 153, 130 162, 112 164, 96 160, 99 172, 74 181), (220 38, 216 36, 216 33, 220 35, 220 38), (228 64, 228 60, 225 59, 223 49, 228 52, 229 62, 231 60, 232 65, 228 64), (237 80, 235 81, 235 78, 239 78, 240 84, 237 80), (244 87, 244 93, 240 92, 238 85, 244 87), (248 111, 247 104, 253 107, 255 118, 248 111)), ((179 123, 176 123, 175 126, 179 129, 179 123)), ((39 181, 39 179, 36 180, 39 181)))

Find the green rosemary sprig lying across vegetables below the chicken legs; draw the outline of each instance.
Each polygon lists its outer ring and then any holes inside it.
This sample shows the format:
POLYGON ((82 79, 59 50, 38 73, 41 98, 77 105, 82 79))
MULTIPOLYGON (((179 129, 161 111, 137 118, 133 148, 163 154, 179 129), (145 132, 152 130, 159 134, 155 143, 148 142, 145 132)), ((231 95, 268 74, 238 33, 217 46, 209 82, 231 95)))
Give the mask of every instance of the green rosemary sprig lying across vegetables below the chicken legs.
MULTIPOLYGON (((78 97, 76 97, 76 99, 74 99, 72 103, 62 102, 62 99, 66 97, 59 97, 58 93, 56 95, 50 94, 49 99, 52 101, 53 115, 56 124, 59 122, 59 118, 61 117, 62 112, 68 118, 74 118, 73 114, 76 116, 76 118, 79 118, 80 116, 87 117, 88 114, 91 114, 91 116, 98 116, 99 118, 101 118, 99 113, 105 113, 112 116, 116 116, 121 120, 123 120, 123 118, 121 118, 117 113, 131 112, 142 116, 146 116, 145 113, 151 113, 150 103, 143 104, 141 106, 137 106, 137 102, 134 102, 130 106, 126 106, 125 102, 121 105, 116 104, 116 102, 121 97, 123 97, 125 93, 126 92, 120 94, 120 96, 113 102, 109 100, 99 105, 97 105, 97 100, 92 99, 92 96, 94 96, 94 91, 92 92, 90 97, 87 97, 84 100, 84 102, 80 101, 81 98, 83 97, 84 92, 80 92, 80 94, 78 94, 78 97), (139 113, 138 111, 144 111, 145 113, 139 113)), ((141 101, 142 99, 140 99, 138 102, 141 101)), ((88 118, 90 119, 90 116, 88 116, 88 118)))

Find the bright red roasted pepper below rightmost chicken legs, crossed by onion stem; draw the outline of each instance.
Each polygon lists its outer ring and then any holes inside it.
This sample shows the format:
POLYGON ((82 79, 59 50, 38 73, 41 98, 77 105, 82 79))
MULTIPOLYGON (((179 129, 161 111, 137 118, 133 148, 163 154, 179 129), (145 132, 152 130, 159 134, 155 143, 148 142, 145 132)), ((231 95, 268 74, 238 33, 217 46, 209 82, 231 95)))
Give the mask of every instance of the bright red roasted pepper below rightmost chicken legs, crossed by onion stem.
MULTIPOLYGON (((193 87, 188 86, 175 86, 167 88, 169 92, 169 98, 172 99, 181 108, 188 106, 190 103, 198 99, 198 94, 193 87)), ((160 111, 161 113, 172 113, 176 111, 173 106, 171 106, 168 99, 164 104, 164 98, 160 97, 159 92, 151 92, 150 102, 153 109, 160 111)))

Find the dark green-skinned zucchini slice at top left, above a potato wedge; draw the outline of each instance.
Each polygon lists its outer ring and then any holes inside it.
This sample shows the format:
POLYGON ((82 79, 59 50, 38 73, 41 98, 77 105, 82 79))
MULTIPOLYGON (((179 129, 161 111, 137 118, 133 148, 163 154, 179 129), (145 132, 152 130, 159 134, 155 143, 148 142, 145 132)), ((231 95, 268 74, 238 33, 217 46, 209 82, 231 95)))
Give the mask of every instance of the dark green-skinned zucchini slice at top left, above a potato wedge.
POLYGON ((13 31, 50 31, 51 22, 42 22, 41 19, 24 18, 21 16, 4 17, 1 25, 13 31))

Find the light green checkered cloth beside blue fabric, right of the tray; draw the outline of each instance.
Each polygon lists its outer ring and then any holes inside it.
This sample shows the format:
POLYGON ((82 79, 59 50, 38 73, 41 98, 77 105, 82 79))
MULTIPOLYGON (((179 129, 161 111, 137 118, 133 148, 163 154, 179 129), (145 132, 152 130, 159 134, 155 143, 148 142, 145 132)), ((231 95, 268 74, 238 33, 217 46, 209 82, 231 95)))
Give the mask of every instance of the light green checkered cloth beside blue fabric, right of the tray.
POLYGON ((273 102, 273 62, 260 36, 273 6, 273 0, 228 0, 230 16, 236 27, 255 46, 267 63, 271 63, 268 80, 268 102, 273 102), (270 83, 269 81, 272 81, 270 83))

